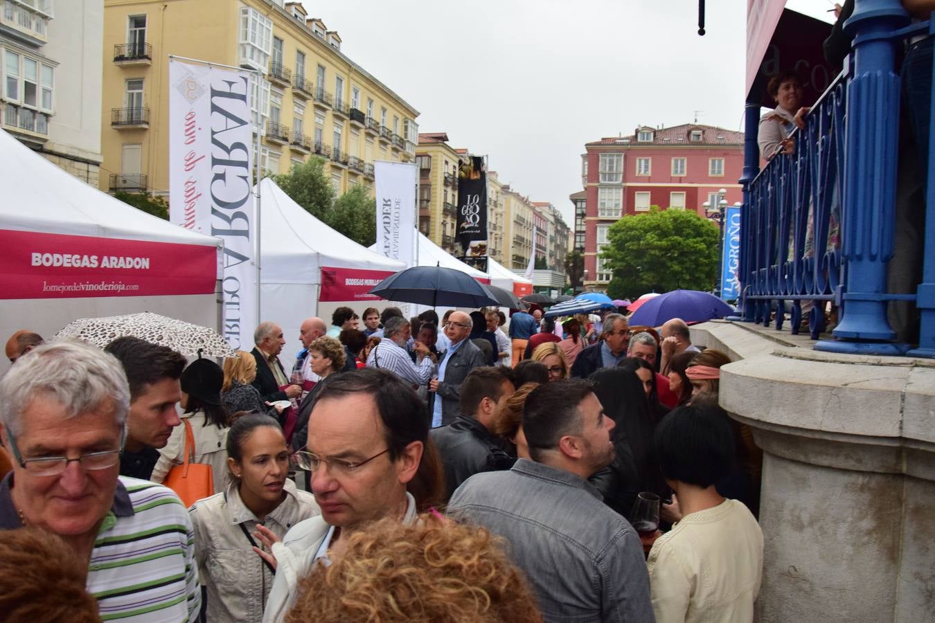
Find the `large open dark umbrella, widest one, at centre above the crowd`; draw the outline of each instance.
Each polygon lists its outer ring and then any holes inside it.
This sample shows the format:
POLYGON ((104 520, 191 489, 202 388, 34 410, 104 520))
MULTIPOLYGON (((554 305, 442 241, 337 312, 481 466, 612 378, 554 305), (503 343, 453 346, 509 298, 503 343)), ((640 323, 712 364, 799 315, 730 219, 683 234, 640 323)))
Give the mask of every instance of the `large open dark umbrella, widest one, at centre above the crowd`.
POLYGON ((443 266, 413 266, 386 277, 370 294, 400 303, 483 307, 499 302, 467 273, 443 266))

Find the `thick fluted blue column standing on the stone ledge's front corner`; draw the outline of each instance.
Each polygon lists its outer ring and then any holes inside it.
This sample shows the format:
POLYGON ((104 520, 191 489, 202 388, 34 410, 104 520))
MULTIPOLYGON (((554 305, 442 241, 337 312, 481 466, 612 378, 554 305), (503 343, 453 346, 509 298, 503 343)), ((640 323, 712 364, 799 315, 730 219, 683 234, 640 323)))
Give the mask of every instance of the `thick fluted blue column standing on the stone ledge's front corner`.
POLYGON ((888 35, 906 25, 899 0, 856 0, 844 30, 854 35, 854 72, 847 92, 842 218, 847 262, 841 322, 817 350, 899 355, 886 320, 886 262, 893 256, 899 136, 896 46, 888 35))

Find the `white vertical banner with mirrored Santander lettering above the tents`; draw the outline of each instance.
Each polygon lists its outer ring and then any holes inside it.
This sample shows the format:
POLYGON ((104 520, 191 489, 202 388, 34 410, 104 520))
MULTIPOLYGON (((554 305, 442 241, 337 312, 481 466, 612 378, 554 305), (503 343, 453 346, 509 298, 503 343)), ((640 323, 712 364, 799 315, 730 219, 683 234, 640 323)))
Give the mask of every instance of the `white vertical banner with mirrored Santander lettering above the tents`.
POLYGON ((377 251, 415 265, 415 163, 373 163, 377 203, 377 251))

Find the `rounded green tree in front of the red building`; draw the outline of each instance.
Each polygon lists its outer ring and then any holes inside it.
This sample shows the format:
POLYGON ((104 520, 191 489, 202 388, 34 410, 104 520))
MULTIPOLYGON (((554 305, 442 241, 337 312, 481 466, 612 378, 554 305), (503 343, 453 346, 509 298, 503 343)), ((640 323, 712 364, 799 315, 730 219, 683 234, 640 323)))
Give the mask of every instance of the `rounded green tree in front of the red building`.
POLYGON ((611 298, 650 291, 711 290, 717 274, 717 225, 688 210, 626 215, 611 225, 601 257, 613 278, 611 298))

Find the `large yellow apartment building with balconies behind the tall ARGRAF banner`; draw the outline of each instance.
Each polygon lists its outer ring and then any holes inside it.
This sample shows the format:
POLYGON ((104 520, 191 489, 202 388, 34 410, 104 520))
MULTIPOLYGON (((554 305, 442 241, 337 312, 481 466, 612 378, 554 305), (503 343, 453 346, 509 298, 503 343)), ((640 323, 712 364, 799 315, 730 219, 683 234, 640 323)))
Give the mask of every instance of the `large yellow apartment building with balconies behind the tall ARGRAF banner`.
POLYGON ((105 0, 99 187, 168 192, 174 55, 263 73, 253 115, 264 170, 287 173, 316 155, 338 194, 358 184, 372 192, 374 161, 415 159, 419 112, 340 47, 299 3, 105 0))

